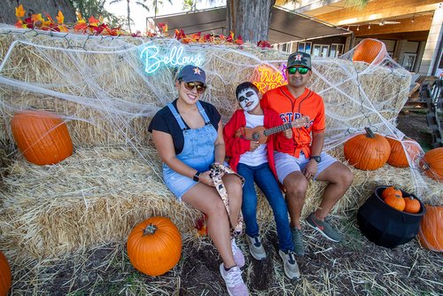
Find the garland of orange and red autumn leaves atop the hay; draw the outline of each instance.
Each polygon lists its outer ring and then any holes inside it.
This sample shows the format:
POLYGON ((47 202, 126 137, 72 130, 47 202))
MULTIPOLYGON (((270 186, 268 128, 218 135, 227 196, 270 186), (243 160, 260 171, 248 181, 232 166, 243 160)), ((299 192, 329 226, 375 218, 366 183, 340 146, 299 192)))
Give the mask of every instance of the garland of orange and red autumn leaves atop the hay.
MULTIPOLYGON (((167 32, 167 24, 159 23, 159 32, 146 31, 145 35, 142 35, 140 31, 136 31, 136 33, 128 34, 121 30, 120 27, 109 27, 103 18, 94 18, 94 16, 90 16, 88 22, 82 18, 82 14, 80 12, 76 12, 77 22, 68 26, 65 24, 65 16, 62 12, 58 11, 58 15, 56 17, 57 21, 51 18, 51 15, 48 13, 44 13, 46 18, 42 16, 42 13, 31 14, 28 13, 28 17, 25 18, 25 10, 23 9, 23 5, 20 4, 19 7, 15 8, 15 15, 17 17, 17 22, 15 23, 15 27, 19 28, 29 28, 29 29, 41 29, 44 31, 56 31, 56 32, 74 32, 76 34, 88 34, 88 35, 111 35, 111 36, 120 36, 120 35, 130 35, 132 37, 169 37, 169 33, 167 32)), ((242 45, 243 38, 241 35, 235 38, 234 32, 230 31, 228 36, 224 35, 216 35, 216 34, 206 34, 202 35, 201 32, 192 35, 186 35, 183 29, 175 29, 174 34, 175 39, 179 40, 182 43, 214 43, 214 44, 236 44, 242 45)), ((262 49, 271 48, 271 44, 268 41, 259 41, 257 43, 262 49)))

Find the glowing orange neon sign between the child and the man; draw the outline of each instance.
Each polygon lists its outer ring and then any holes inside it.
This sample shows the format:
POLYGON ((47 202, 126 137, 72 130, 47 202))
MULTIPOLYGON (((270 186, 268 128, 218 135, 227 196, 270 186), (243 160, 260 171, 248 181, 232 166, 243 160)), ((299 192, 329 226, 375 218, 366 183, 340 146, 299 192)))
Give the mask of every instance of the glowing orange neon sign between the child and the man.
POLYGON ((287 83, 285 69, 285 65, 282 66, 280 72, 271 66, 258 66, 254 71, 253 84, 261 93, 276 89, 287 83))

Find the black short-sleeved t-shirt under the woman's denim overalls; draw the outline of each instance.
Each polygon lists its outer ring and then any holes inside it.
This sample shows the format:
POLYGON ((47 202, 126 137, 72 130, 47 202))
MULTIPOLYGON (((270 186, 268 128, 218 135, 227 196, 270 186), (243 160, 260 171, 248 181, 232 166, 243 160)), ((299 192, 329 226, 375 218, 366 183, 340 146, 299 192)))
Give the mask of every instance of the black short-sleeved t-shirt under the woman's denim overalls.
MULTIPOLYGON (((175 109, 177 109, 177 99, 175 99, 172 104, 175 106, 175 109)), ((205 109, 206 115, 209 118, 209 121, 211 121, 211 124, 214 126, 214 129, 218 130, 221 119, 220 113, 217 111, 217 109, 215 109, 214 105, 203 101, 200 101, 200 104, 202 105, 203 109, 205 109)), ((190 129, 186 122, 184 122, 184 124, 188 129, 190 129)), ((175 155, 178 155, 183 151, 183 131, 180 129, 180 125, 175 120, 174 114, 171 112, 168 106, 164 106, 154 115, 148 127, 148 131, 150 133, 152 133, 152 130, 159 130, 172 136, 175 147, 175 155)))

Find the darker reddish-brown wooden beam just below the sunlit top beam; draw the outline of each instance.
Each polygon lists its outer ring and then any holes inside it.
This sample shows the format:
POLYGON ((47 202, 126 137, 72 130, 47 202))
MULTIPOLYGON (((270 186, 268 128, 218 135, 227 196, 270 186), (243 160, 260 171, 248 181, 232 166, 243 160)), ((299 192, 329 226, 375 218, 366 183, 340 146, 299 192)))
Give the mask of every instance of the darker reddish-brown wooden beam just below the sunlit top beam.
MULTIPOLYGON (((422 15, 419 17, 414 17, 414 22, 412 18, 408 19, 396 19, 400 21, 400 24, 390 24, 385 26, 379 26, 377 24, 364 24, 357 27, 350 27, 354 31, 355 36, 360 35, 380 35, 380 34, 390 34, 390 33, 405 33, 405 32, 418 32, 418 31, 429 31, 431 28, 431 15, 422 15)), ((346 26, 343 26, 346 27, 346 26)))

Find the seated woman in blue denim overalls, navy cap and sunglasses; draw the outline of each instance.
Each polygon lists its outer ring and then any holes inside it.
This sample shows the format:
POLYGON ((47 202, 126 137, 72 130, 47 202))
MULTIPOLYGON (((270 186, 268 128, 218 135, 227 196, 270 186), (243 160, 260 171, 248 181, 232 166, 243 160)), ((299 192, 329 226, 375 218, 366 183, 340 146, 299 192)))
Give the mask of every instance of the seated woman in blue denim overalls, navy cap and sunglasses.
MULTIPOLYGON (((209 167, 223 163, 225 144, 221 116, 198 98, 206 90, 206 74, 198 66, 184 66, 177 75, 178 98, 159 110, 149 131, 163 160, 163 178, 178 200, 207 215, 207 230, 220 253, 221 277, 229 295, 247 295, 240 268, 245 257, 230 238, 229 217, 214 188, 209 167)), ((229 195, 230 221, 237 222, 242 205, 242 183, 237 175, 223 175, 229 195)))

